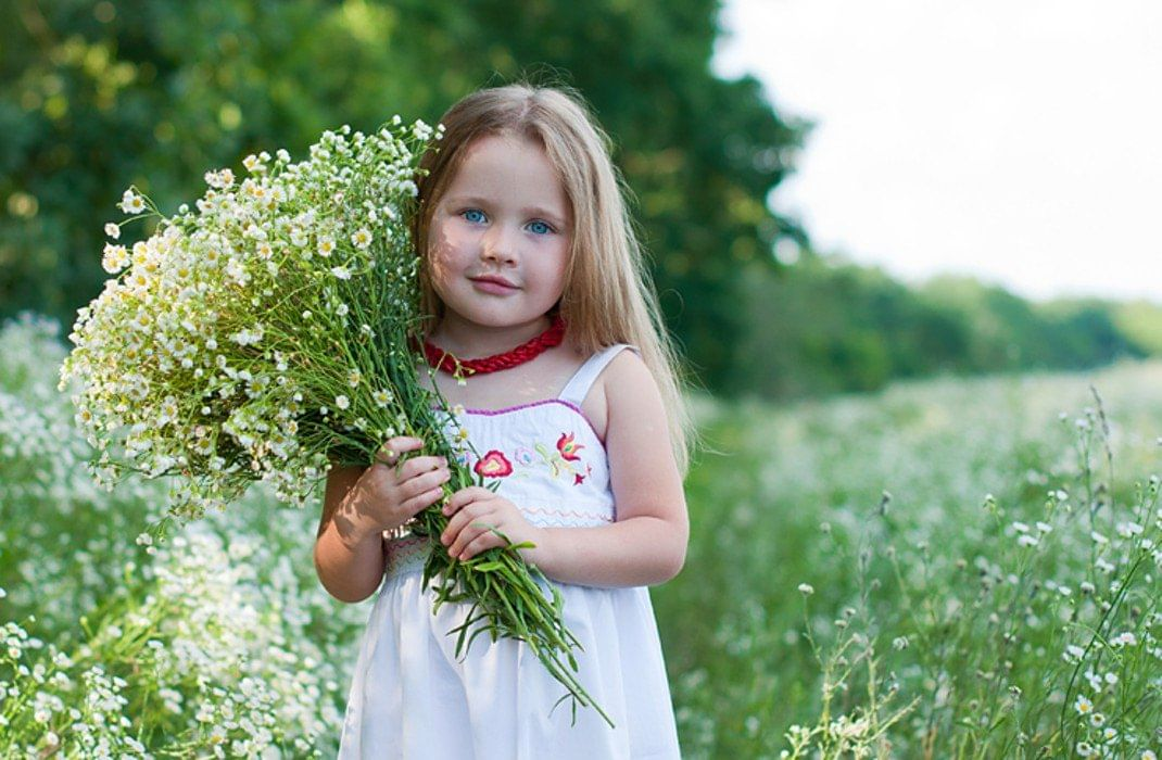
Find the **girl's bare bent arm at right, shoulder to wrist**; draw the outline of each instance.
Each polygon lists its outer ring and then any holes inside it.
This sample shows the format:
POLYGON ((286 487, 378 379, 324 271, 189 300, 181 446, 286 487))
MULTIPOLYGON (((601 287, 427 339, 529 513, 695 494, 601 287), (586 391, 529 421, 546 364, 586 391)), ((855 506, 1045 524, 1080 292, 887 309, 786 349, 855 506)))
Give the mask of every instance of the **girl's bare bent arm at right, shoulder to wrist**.
POLYGON ((682 476, 661 394, 645 363, 622 351, 602 372, 617 522, 545 528, 529 560, 548 578, 583 586, 654 586, 677 575, 690 535, 682 476))

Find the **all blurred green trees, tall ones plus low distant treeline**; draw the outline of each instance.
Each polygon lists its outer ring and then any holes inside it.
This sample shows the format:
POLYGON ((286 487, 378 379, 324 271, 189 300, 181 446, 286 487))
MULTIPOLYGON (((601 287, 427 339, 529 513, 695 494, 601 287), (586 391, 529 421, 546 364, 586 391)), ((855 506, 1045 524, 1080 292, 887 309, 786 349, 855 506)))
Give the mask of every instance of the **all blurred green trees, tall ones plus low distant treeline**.
POLYGON ((971 281, 912 289, 825 264, 766 203, 809 124, 755 79, 711 74, 718 7, 0 3, 0 317, 72 323, 100 291, 101 228, 131 184, 168 214, 201 194, 206 170, 237 170, 248 153, 285 145, 297 158, 323 129, 368 130, 393 113, 435 123, 464 94, 528 77, 579 88, 614 138, 666 322, 717 393, 874 390, 1162 352, 1157 307, 1050 313, 971 281), (802 261, 780 264, 779 242, 802 261))

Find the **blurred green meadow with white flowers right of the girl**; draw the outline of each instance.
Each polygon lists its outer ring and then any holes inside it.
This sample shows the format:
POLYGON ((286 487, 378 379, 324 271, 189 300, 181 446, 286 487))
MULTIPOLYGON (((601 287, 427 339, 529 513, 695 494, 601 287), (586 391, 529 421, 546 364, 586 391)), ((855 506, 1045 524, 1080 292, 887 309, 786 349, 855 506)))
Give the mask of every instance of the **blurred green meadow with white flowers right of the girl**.
POLYGON ((703 420, 654 593, 687 757, 1159 751, 1162 366, 703 420))

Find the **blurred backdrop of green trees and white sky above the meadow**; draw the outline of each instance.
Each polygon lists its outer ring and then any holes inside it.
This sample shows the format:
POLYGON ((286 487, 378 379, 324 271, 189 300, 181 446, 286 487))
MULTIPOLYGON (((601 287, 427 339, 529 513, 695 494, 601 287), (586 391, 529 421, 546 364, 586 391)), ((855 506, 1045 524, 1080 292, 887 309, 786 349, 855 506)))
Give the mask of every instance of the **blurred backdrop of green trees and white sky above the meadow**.
MULTIPOLYGON (((71 325, 130 184, 525 76, 617 144, 668 324, 723 397, 1162 352, 1145 2, 10 0, 0 317, 71 325), (726 336, 726 339, 724 339, 726 336)), ((297 151, 297 153, 296 153, 297 151)), ((148 229, 128 230, 129 241, 148 229)), ((67 330, 66 330, 67 332, 67 330)))

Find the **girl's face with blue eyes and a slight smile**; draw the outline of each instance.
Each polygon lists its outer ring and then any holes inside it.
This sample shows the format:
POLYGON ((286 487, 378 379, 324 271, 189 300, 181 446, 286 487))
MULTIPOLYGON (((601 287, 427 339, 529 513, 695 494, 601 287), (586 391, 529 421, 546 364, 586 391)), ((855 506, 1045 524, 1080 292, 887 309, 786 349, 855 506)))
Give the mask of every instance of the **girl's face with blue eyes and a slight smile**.
POLYGON ((565 286, 571 207, 536 142, 479 137, 433 209, 432 288, 445 320, 488 328, 539 324, 565 286))

